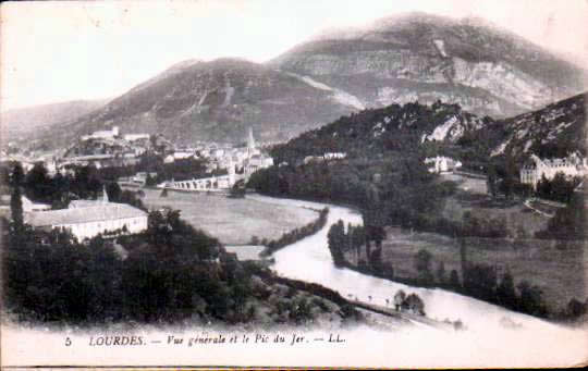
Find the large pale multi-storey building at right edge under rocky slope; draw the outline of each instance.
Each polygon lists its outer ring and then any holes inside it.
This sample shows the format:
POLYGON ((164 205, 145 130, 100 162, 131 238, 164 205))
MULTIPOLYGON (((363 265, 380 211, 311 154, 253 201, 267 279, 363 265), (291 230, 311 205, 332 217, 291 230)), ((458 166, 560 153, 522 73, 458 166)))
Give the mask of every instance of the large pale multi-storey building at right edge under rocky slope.
POLYGON ((587 159, 580 158, 577 153, 563 159, 540 159, 531 154, 520 168, 520 183, 529 184, 535 189, 543 176, 552 180, 558 173, 564 174, 567 178, 585 176, 588 174, 587 159))

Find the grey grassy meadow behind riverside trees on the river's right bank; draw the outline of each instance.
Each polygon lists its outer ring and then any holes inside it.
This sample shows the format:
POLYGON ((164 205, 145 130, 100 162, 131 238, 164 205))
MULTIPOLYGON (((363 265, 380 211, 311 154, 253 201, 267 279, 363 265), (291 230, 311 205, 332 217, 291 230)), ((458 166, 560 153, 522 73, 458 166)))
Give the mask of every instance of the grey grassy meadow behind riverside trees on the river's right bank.
MULTIPOLYGON (((525 247, 500 239, 469 240, 467 258, 470 263, 486 263, 498 268, 499 276, 507 269, 515 285, 523 280, 539 286, 551 309, 559 309, 576 297, 586 300, 588 287, 588 253, 586 247, 560 249, 554 242, 528 239, 525 247), (518 247, 517 247, 518 246, 518 247)), ((460 246, 456 240, 434 233, 411 233, 391 227, 382 244, 382 260, 389 262, 394 276, 416 279, 415 256, 425 249, 432 255, 431 271, 437 279, 439 262, 443 261, 446 277, 456 270, 462 277, 460 246)), ((348 253, 353 262, 355 253, 348 253)), ((365 259, 363 251, 362 259, 365 259)))

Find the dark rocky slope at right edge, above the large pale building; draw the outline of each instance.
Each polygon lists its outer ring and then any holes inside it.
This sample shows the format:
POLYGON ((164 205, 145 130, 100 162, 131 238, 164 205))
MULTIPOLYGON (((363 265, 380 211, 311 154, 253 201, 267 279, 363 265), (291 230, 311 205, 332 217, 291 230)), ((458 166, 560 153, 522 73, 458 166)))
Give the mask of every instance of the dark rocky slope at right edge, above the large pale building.
POLYGON ((573 152, 587 154, 586 109, 588 92, 549 104, 540 110, 495 122, 486 131, 502 132, 491 156, 511 153, 522 158, 562 158, 573 152))

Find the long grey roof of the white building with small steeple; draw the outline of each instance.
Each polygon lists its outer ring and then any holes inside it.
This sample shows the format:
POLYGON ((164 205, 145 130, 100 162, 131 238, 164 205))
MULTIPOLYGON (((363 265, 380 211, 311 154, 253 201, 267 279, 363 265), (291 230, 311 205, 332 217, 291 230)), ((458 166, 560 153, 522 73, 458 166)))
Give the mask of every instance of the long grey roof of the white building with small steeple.
POLYGON ((25 222, 33 226, 79 224, 109 220, 147 217, 140 209, 126 203, 102 203, 77 209, 61 209, 25 213, 25 222))

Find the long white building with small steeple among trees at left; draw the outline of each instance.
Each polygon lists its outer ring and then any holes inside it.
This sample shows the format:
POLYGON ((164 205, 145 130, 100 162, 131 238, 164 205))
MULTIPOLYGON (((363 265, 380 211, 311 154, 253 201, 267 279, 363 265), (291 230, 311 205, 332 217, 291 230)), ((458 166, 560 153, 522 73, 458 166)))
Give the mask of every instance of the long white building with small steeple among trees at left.
POLYGON ((100 233, 125 231, 140 233, 147 230, 147 213, 126 203, 77 201, 68 209, 27 212, 25 222, 35 228, 69 230, 78 240, 100 233))

